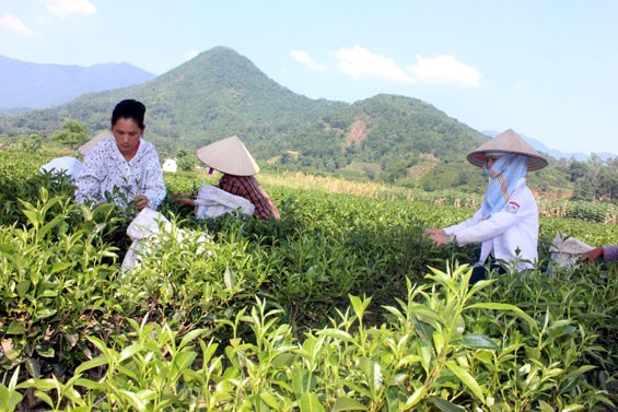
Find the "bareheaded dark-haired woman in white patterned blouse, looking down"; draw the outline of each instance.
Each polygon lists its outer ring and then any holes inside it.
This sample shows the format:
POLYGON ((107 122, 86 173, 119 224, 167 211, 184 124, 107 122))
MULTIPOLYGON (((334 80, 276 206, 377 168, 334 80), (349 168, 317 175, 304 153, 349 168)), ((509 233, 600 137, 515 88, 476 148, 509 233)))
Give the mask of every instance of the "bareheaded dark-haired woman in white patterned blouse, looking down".
POLYGON ((80 202, 112 201, 137 209, 156 209, 166 193, 163 172, 152 143, 142 139, 145 106, 135 99, 116 105, 112 113, 113 137, 98 142, 84 157, 77 180, 80 202))

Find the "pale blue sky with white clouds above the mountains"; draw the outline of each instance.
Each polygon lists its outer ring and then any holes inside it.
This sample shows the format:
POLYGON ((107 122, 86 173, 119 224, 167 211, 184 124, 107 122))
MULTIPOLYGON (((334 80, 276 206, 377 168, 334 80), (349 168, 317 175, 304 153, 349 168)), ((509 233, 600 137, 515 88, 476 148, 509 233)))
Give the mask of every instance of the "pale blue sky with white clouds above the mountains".
POLYGON ((0 0, 0 55, 19 60, 161 74, 215 46, 311 98, 417 97, 479 131, 618 153, 615 0, 0 0))

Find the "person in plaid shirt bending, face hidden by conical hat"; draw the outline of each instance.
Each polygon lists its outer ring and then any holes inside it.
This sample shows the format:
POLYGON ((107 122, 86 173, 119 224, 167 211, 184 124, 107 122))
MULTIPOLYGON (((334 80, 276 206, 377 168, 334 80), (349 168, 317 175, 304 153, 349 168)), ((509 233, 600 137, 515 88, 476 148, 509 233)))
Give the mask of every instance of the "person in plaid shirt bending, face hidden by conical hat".
MULTIPOLYGON (((254 177, 259 166, 236 136, 198 149, 197 156, 210 167, 210 173, 214 169, 223 174, 219 189, 247 199, 255 207, 254 215, 260 219, 280 219, 277 207, 254 177)), ((185 205, 196 205, 191 199, 177 200, 185 205)))

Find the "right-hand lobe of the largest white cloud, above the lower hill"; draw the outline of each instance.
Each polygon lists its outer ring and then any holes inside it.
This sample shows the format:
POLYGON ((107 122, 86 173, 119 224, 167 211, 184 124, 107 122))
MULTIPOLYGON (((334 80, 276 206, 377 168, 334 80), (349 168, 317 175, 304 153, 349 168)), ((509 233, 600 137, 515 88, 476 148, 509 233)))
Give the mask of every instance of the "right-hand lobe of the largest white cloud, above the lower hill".
POLYGON ((460 87, 478 87, 481 75, 477 69, 457 61, 453 56, 424 58, 417 55, 417 62, 408 66, 410 78, 418 83, 446 84, 460 87))

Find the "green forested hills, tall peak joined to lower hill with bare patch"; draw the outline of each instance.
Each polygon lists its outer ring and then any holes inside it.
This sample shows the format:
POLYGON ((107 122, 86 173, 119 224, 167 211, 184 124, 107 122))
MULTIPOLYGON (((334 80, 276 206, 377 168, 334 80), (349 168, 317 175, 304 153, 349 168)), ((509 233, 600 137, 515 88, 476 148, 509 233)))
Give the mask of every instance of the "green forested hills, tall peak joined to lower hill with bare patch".
POLYGON ((70 118, 95 134, 109 127, 114 105, 128 97, 147 105, 147 137, 163 153, 237 134, 258 162, 358 178, 418 179, 448 168, 465 174, 470 168, 463 166, 464 154, 488 139, 416 98, 377 95, 354 104, 307 98, 228 47, 143 84, 0 118, 0 133, 50 136, 70 118))

